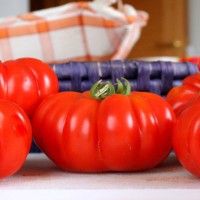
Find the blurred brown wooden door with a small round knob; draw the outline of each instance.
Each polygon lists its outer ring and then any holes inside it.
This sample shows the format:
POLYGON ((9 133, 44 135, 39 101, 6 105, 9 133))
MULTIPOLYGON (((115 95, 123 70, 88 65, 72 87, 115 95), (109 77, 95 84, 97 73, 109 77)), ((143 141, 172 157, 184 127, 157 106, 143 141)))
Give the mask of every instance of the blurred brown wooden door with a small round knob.
POLYGON ((188 0, 123 0, 149 13, 147 26, 130 58, 186 55, 188 45, 188 0))

